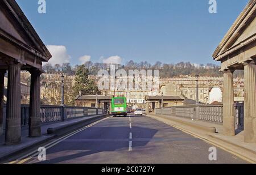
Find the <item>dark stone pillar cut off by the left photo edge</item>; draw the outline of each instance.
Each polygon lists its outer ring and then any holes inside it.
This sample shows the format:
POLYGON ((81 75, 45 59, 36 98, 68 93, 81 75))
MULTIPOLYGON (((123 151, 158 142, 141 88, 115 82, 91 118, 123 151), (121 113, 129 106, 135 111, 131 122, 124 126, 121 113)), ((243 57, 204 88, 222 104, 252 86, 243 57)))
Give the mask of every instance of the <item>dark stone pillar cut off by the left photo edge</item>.
POLYGON ((5 88, 5 70, 0 70, 0 135, 3 134, 3 92, 5 88))

